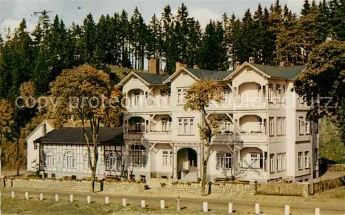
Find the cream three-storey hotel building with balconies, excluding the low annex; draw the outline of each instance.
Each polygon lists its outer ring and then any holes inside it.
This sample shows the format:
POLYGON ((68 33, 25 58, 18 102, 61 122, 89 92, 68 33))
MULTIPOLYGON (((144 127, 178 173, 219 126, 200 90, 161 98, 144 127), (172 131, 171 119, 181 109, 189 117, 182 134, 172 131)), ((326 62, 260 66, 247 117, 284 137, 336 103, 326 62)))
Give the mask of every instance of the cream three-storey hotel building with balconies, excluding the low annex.
POLYGON ((207 108, 224 119, 211 145, 210 180, 308 181, 318 176, 317 122, 306 121, 308 107, 292 92, 305 66, 273 67, 243 63, 234 71, 199 70, 177 63, 176 72, 130 72, 119 86, 126 94, 124 156, 128 177, 201 178, 201 113, 183 109, 186 89, 213 79, 224 101, 207 108))

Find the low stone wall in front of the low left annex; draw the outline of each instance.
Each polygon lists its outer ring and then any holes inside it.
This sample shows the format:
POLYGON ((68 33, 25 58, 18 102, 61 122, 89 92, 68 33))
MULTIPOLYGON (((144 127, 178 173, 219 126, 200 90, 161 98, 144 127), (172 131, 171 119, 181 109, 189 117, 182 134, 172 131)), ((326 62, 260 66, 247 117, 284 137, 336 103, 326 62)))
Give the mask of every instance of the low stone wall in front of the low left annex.
MULTIPOLYGON (((61 180, 61 179, 38 179, 38 178, 2 178, 1 187, 37 188, 45 190, 70 190, 90 192, 90 181, 61 180)), ((127 181, 97 181, 95 191, 111 192, 144 192, 145 183, 127 181)))

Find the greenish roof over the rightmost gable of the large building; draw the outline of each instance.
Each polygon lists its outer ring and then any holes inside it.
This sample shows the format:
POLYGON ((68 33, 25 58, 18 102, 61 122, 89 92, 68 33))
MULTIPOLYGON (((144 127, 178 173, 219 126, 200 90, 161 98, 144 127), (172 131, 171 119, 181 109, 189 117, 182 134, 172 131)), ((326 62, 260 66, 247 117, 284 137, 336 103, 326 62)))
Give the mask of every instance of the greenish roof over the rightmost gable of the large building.
POLYGON ((261 73, 267 78, 278 79, 294 79, 295 76, 299 75, 304 70, 304 68, 306 68, 306 65, 273 66, 245 62, 231 74, 226 76, 224 80, 232 78, 235 74, 240 72, 246 66, 250 66, 251 68, 257 70, 257 72, 261 73))

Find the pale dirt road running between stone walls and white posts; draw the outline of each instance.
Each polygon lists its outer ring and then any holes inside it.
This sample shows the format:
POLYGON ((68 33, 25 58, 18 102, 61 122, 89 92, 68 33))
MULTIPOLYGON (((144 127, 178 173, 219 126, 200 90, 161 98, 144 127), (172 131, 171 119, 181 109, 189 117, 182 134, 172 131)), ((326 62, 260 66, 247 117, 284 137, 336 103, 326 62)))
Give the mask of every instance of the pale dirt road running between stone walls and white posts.
MULTIPOLYGON (((44 198, 54 199, 55 194, 59 194, 62 201, 68 201, 69 195, 74 194, 77 201, 86 201, 86 196, 90 195, 92 201, 104 202, 104 198, 109 196, 110 202, 121 204, 121 199, 126 198, 127 203, 130 205, 139 205, 142 199, 146 200, 146 204, 159 205, 159 201, 164 199, 167 205, 175 205, 176 197, 172 196, 140 196, 140 194, 112 194, 110 192, 98 192, 95 194, 85 192, 68 192, 68 191, 52 191, 52 190, 36 190, 36 189, 18 189, 6 187, 1 190, 3 196, 10 196, 10 192, 14 191, 17 198, 24 198, 24 192, 29 192, 31 197, 36 198, 39 193, 43 193, 44 198)), ((281 196, 234 196, 233 199, 213 198, 212 196, 194 196, 184 197, 181 196, 181 206, 188 208, 201 209, 202 203, 208 202, 208 207, 224 211, 228 211, 228 203, 233 203, 233 209, 236 214, 253 214, 255 210, 255 203, 260 204, 262 214, 284 214, 285 205, 290 205, 290 214, 315 214, 315 207, 320 208, 321 214, 345 214, 345 202, 343 199, 317 199, 317 198, 284 198, 281 196), (259 198, 258 198, 259 197, 259 198)))

